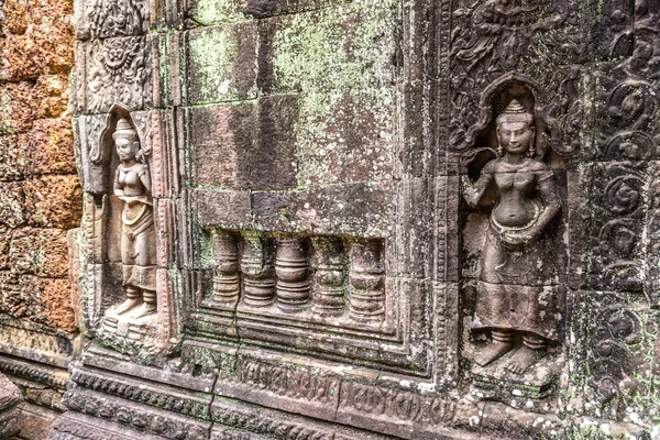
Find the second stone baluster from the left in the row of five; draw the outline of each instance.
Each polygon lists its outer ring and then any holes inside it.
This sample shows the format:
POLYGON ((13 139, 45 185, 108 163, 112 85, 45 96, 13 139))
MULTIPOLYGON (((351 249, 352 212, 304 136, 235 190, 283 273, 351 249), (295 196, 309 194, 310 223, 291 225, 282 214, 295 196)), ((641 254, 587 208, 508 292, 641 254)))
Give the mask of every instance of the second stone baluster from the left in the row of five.
POLYGON ((243 300, 249 306, 270 306, 275 299, 275 274, 267 243, 253 231, 244 232, 243 238, 243 300))

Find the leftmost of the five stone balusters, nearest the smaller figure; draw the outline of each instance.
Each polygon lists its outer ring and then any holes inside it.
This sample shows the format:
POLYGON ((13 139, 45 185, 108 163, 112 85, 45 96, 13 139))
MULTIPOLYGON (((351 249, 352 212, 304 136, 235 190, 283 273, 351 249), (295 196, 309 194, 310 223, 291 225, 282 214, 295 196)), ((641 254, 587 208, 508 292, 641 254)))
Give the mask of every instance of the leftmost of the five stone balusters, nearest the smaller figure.
POLYGON ((211 302, 233 307, 239 299, 239 246, 237 237, 216 230, 212 234, 213 294, 211 302))

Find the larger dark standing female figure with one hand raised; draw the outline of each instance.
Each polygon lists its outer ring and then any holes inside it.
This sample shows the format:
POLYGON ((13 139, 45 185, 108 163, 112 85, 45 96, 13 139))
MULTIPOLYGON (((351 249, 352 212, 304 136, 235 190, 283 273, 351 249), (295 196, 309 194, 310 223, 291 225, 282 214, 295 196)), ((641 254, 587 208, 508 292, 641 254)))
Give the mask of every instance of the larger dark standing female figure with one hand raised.
POLYGON ((497 116, 498 157, 488 162, 475 185, 463 177, 464 198, 475 207, 491 184, 499 193, 486 232, 474 329, 491 330, 493 341, 476 356, 487 365, 522 345, 506 369, 521 374, 537 362, 548 341, 557 341, 559 288, 546 232, 561 210, 554 175, 536 153, 534 114, 516 99, 497 116))

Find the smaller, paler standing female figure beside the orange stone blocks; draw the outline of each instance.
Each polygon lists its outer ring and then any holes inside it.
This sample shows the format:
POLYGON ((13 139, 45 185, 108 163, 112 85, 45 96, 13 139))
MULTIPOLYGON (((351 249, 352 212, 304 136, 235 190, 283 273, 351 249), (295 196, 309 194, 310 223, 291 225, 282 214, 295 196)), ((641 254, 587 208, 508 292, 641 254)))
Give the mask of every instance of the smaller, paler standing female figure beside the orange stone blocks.
POLYGON ((156 311, 156 237, 151 198, 151 176, 140 148, 138 132, 120 119, 112 134, 120 164, 114 195, 123 201, 121 263, 127 299, 117 315, 140 318, 156 311))

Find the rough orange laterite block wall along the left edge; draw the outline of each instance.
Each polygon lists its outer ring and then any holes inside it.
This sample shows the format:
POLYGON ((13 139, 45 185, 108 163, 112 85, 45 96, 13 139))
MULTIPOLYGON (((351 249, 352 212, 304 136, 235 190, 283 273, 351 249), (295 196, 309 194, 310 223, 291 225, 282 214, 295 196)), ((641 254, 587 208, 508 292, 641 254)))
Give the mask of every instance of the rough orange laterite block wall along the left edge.
POLYGON ((82 208, 68 111, 72 14, 67 0, 0 2, 0 372, 29 402, 25 436, 45 436, 65 409, 77 332, 67 245, 82 208))

